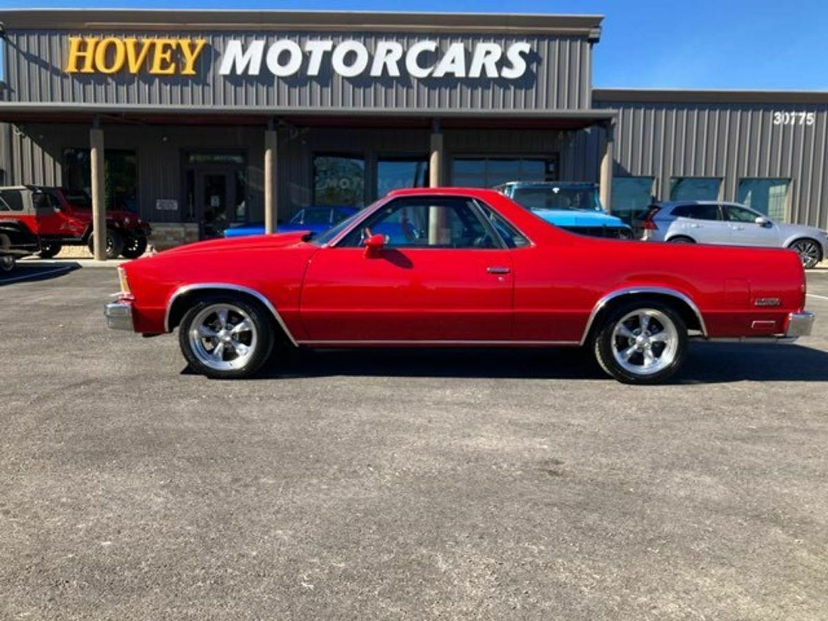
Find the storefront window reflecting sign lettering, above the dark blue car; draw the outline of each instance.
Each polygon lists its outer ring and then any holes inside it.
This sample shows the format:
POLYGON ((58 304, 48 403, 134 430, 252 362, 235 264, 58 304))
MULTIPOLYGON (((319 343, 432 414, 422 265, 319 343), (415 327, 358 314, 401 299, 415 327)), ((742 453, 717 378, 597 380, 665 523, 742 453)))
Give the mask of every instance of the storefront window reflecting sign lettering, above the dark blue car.
POLYGON ((313 158, 314 205, 365 205, 365 161, 361 157, 318 155, 313 158))

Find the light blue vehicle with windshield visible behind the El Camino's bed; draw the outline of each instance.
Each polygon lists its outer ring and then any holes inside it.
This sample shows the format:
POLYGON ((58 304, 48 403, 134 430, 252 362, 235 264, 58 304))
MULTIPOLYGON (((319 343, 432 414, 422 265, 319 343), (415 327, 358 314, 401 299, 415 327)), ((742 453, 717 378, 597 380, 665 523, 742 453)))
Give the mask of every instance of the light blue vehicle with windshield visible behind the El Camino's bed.
POLYGON ((550 224, 571 233, 632 239, 633 229, 601 207, 597 183, 509 181, 494 188, 550 224))

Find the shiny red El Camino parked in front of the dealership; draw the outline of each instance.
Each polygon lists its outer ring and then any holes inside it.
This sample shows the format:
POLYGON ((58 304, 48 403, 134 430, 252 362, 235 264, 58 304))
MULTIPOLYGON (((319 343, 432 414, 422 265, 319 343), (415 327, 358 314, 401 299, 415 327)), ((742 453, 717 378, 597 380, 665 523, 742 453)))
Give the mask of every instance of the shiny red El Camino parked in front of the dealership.
POLYGON ((491 190, 401 190, 318 237, 194 243, 126 263, 111 328, 179 328, 190 366, 254 373, 275 347, 588 346, 627 383, 690 338, 811 333, 797 253, 557 229, 491 190))

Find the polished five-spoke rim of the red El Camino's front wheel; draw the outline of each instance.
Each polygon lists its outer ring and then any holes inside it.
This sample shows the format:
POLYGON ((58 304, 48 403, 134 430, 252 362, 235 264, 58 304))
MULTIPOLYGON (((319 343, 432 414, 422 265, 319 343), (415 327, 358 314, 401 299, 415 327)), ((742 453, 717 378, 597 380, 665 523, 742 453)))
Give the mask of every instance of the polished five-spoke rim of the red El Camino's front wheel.
POLYGON ((190 350, 200 363, 216 371, 243 368, 257 344, 250 315, 232 304, 207 306, 190 324, 190 350))

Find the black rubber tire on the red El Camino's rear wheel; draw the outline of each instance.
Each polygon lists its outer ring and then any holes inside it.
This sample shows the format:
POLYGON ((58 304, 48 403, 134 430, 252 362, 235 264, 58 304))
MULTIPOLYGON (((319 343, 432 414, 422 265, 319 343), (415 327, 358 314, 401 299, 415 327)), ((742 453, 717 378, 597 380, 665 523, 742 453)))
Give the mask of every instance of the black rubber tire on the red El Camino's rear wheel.
MULTIPOLYGON (((635 332, 634 328, 628 328, 628 330, 632 330, 633 334, 635 332)), ((638 338, 638 335, 636 335, 636 338, 638 338)), ((595 359, 598 360, 601 368, 619 382, 628 384, 662 383, 672 377, 681 368, 681 364, 684 363, 687 354, 687 326, 684 320, 681 319, 681 315, 672 306, 662 301, 647 299, 630 301, 610 309, 604 315, 595 333, 593 349, 595 350, 595 359), (654 340, 650 342, 647 335, 643 337, 643 342, 640 345, 648 349, 650 351, 649 355, 651 357, 655 356, 654 359, 657 361, 657 366, 647 372, 643 371, 643 365, 646 363, 643 349, 640 351, 636 349, 631 356, 628 356, 626 366, 616 358, 616 351, 622 349, 623 346, 627 346, 629 349, 638 347, 637 341, 633 342, 632 339, 615 332, 616 326, 622 322, 625 327, 628 327, 629 322, 633 322, 630 315, 636 313, 636 311, 642 311, 643 314, 646 314, 644 311, 655 311, 648 321, 650 321, 650 326, 653 325, 652 322, 655 322, 657 331, 650 334, 658 336, 663 332, 664 335, 662 336, 667 336, 670 339, 669 344, 659 345, 662 341, 654 340), (625 320, 628 317, 630 318, 625 320), (668 322, 672 322, 672 330, 667 325, 662 325, 668 322), (668 356, 668 358, 662 361, 662 356, 668 356), (638 364, 639 359, 641 365, 638 364), (663 366, 660 366, 662 364, 663 366), (641 372, 635 370, 635 367, 638 366, 642 368, 641 372)), ((622 352, 619 351, 618 353, 619 356, 623 357, 622 352)))

